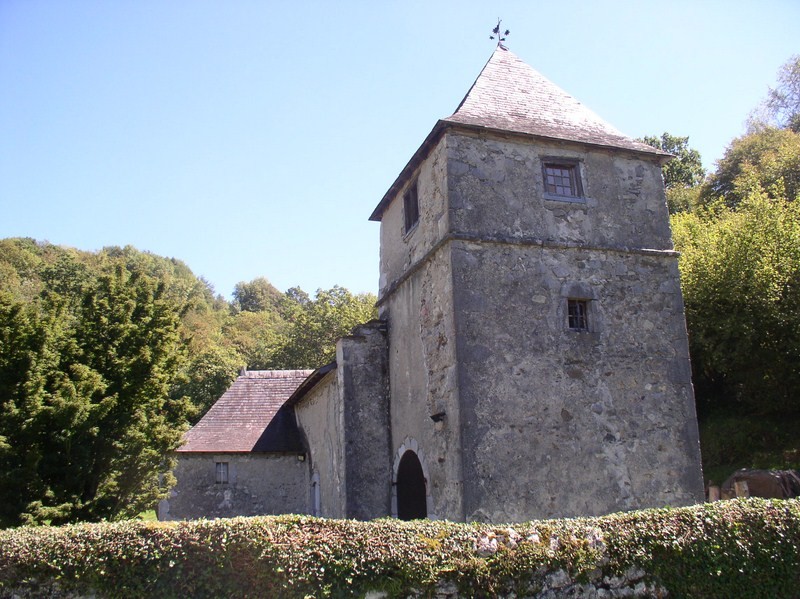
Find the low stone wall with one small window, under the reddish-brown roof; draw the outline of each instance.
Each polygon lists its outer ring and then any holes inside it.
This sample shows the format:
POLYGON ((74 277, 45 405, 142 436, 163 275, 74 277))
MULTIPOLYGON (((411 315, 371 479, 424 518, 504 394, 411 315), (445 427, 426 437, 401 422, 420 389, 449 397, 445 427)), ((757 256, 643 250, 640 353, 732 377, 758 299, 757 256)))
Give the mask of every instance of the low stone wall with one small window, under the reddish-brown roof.
POLYGON ((294 454, 180 454, 174 474, 159 520, 309 513, 308 467, 294 454), (227 484, 217 462, 228 463, 227 484))

